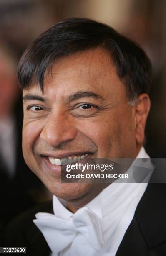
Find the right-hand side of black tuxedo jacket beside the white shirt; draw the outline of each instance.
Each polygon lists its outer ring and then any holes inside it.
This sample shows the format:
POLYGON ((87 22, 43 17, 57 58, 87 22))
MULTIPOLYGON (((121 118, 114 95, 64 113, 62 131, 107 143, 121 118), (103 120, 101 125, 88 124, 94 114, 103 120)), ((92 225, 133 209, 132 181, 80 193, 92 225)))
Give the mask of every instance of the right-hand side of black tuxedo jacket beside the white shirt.
POLYGON ((148 184, 116 256, 159 255, 155 246, 166 241, 165 198, 165 184, 148 184))

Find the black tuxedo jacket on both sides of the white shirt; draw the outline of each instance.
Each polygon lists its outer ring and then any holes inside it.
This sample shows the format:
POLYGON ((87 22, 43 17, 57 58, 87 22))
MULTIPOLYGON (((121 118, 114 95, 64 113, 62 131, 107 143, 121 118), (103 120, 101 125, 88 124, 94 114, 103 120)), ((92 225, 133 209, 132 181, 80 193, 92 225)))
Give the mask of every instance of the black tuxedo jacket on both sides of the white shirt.
MULTIPOLYGON (((49 256, 50 248, 32 221, 37 212, 53 213, 52 202, 13 220, 0 246, 27 247, 27 255, 49 256)), ((148 184, 116 256, 166 256, 166 184, 148 184)))

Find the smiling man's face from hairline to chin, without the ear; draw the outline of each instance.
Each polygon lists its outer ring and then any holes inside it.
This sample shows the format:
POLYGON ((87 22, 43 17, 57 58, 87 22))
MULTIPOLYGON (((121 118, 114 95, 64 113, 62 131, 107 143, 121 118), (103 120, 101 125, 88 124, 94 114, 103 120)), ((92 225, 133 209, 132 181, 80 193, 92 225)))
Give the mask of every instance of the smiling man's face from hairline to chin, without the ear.
POLYGON ((23 97, 24 158, 54 195, 80 198, 81 205, 101 189, 61 184, 60 159, 136 157, 135 110, 102 49, 59 59, 45 76, 44 92, 34 85, 23 97))

